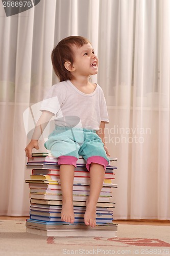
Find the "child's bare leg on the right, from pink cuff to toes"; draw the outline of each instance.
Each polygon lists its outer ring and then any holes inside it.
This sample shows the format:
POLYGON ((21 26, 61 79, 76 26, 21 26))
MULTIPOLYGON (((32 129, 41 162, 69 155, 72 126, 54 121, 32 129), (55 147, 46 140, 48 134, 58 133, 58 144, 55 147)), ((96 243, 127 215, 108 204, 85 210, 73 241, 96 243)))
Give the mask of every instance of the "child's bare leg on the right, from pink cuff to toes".
POLYGON ((86 211, 84 214, 84 223, 88 226, 95 227, 96 204, 102 190, 105 177, 103 165, 91 163, 90 165, 90 195, 86 202, 86 211))

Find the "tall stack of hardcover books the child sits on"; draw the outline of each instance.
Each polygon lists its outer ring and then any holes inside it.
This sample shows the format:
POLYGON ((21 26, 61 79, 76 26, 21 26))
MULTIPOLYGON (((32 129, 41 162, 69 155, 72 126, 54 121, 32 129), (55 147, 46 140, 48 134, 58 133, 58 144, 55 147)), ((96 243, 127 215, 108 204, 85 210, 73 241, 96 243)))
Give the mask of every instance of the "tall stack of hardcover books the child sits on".
POLYGON ((103 187, 96 208, 96 226, 84 224, 86 200, 90 191, 90 176, 83 158, 77 161, 73 185, 73 204, 75 222, 61 221, 62 191, 57 158, 49 153, 34 153, 28 159, 27 169, 31 169, 30 179, 30 219, 26 221, 27 232, 44 236, 116 236, 117 224, 113 223, 114 170, 116 158, 110 158, 106 168, 103 187))

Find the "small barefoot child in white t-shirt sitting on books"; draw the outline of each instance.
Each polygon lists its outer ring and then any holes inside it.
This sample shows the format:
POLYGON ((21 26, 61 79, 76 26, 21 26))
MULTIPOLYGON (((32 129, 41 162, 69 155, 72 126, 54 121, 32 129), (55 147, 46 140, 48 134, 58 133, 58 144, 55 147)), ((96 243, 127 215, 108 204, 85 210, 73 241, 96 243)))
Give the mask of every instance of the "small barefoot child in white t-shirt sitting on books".
POLYGON ((83 156, 90 172, 84 223, 94 227, 96 204, 110 156, 104 141, 105 123, 109 122, 105 98, 100 86, 89 81, 89 76, 98 73, 98 58, 86 38, 69 36, 54 48, 52 63, 60 82, 52 86, 42 101, 42 115, 25 148, 26 156, 31 158, 32 149, 39 149, 38 139, 56 115, 55 130, 48 136, 45 147, 60 164, 61 220, 74 223, 72 186, 77 160, 83 156))

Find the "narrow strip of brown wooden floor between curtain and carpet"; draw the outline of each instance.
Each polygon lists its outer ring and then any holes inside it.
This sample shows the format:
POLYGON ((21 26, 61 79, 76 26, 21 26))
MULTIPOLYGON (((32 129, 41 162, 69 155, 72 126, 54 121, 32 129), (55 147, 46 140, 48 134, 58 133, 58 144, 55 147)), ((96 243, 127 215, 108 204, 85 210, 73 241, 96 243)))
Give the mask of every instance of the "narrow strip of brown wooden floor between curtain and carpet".
MULTIPOLYGON (((11 216, 0 216, 0 220, 18 220, 24 221, 29 219, 28 216, 25 217, 11 217, 11 216)), ((160 220, 115 220, 117 224, 129 224, 129 225, 156 225, 156 226, 170 226, 170 221, 160 221, 160 220)))

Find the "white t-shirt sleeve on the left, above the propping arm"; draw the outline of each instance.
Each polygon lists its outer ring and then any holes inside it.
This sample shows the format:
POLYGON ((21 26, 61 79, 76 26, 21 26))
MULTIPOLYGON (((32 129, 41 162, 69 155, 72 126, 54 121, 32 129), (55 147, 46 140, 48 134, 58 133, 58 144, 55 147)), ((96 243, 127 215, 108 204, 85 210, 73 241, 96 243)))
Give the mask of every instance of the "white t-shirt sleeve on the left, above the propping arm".
POLYGON ((60 86, 58 86, 58 84, 55 84, 51 87, 45 98, 42 100, 40 111, 46 110, 57 115, 57 113, 61 109, 61 104, 63 103, 63 101, 63 92, 60 86))

